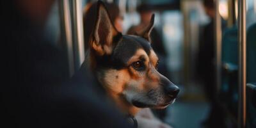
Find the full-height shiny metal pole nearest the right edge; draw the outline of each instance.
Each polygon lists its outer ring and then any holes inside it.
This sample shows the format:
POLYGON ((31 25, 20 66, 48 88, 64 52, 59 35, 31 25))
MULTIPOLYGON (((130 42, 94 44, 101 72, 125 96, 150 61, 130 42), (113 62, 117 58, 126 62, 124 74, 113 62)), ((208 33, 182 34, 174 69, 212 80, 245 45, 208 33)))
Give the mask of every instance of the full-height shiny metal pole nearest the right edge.
POLYGON ((239 106, 238 127, 246 125, 246 0, 238 0, 239 106))

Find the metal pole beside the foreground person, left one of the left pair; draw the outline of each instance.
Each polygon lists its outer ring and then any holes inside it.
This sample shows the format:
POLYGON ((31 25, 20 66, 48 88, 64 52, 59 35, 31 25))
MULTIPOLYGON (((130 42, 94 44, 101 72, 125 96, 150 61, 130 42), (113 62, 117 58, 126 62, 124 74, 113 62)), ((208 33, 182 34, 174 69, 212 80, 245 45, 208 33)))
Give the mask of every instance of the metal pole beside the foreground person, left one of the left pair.
POLYGON ((61 24, 61 42, 65 42, 65 49, 68 58, 68 74, 74 74, 74 52, 72 45, 72 29, 70 17, 70 5, 68 0, 59 0, 58 6, 60 10, 60 24, 61 24))

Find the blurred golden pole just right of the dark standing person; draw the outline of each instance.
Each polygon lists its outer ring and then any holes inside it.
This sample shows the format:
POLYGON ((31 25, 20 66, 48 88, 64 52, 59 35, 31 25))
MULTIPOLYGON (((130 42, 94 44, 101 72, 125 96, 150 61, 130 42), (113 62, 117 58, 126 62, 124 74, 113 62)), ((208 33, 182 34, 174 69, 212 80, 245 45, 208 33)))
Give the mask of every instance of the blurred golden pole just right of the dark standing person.
POLYGON ((218 95, 221 88, 221 36, 221 16, 219 13, 219 0, 215 0, 214 41, 216 44, 216 95, 218 95))

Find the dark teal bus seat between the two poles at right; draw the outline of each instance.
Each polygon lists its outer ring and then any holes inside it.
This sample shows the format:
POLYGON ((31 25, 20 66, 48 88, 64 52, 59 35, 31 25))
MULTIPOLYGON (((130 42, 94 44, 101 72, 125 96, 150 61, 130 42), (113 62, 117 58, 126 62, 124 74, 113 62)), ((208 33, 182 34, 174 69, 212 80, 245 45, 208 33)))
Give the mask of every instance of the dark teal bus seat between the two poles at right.
POLYGON ((222 82, 220 97, 230 111, 237 114, 238 70, 237 26, 225 29, 222 37, 222 82))

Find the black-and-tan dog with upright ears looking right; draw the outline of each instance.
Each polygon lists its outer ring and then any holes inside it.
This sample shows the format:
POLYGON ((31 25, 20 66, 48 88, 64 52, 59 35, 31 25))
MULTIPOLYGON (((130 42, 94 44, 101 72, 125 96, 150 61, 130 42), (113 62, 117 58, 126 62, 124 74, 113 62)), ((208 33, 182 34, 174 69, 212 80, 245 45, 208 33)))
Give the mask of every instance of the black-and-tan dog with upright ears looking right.
POLYGON ((179 93, 175 84, 157 72, 159 60, 150 46, 153 25, 154 15, 138 35, 122 35, 109 19, 104 3, 97 3, 87 67, 116 105, 132 116, 141 108, 166 108, 179 93))

